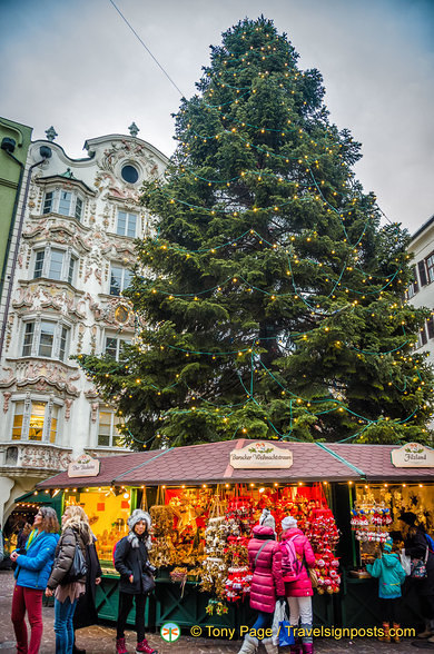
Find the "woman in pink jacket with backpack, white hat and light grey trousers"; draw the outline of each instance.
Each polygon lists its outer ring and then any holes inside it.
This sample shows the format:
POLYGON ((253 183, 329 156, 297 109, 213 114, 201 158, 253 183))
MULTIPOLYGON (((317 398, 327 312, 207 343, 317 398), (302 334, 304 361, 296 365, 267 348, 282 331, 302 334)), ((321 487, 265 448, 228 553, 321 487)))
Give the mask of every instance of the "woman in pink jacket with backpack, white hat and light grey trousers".
POLYGON ((282 521, 282 536, 280 551, 284 559, 284 581, 285 594, 289 604, 289 623, 292 626, 303 630, 304 635, 296 638, 295 644, 290 646, 290 654, 313 654, 314 643, 312 638, 312 595, 314 591, 307 567, 314 567, 315 554, 312 549, 310 543, 302 532, 297 528, 297 521, 292 516, 287 516, 282 521), (288 581, 290 577, 285 575, 285 557, 287 553, 286 542, 294 545, 297 558, 302 564, 300 572, 295 581, 288 581), (306 635, 309 633, 309 635, 306 635), (302 648, 303 647, 303 648, 302 648))

